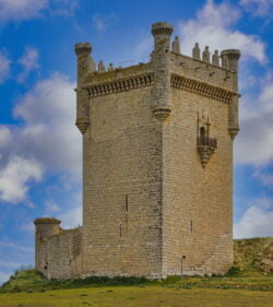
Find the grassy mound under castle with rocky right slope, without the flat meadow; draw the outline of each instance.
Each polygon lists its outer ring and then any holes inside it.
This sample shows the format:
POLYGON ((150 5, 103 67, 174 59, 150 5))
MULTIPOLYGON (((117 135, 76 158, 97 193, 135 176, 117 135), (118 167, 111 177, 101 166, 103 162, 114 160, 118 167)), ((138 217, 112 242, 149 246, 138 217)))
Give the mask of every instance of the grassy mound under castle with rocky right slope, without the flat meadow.
POLYGON ((36 270, 17 271, 0 287, 0 293, 45 292, 49 290, 103 287, 117 285, 161 285, 182 288, 248 288, 273 290, 273 238, 239 239, 234 241, 234 267, 225 276, 179 276, 164 281, 144 278, 96 278, 48 281, 36 270))

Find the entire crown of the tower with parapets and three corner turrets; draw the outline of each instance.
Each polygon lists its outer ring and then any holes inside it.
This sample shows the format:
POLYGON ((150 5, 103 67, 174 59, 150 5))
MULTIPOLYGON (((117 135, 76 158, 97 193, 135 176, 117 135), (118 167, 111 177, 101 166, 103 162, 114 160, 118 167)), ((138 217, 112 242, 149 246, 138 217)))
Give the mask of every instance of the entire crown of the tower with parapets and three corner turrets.
POLYGON ((100 60, 96 67, 88 43, 76 44, 78 56, 78 119, 84 133, 90 125, 90 99, 119 92, 151 86, 153 115, 164 122, 171 114, 171 87, 195 93, 229 105, 228 130, 232 139, 238 123, 238 61, 236 49, 214 50, 197 43, 192 57, 181 54, 179 37, 170 44, 173 25, 158 22, 152 25, 154 49, 151 61, 127 68, 108 67, 100 60), (171 45, 171 48, 170 48, 171 45))

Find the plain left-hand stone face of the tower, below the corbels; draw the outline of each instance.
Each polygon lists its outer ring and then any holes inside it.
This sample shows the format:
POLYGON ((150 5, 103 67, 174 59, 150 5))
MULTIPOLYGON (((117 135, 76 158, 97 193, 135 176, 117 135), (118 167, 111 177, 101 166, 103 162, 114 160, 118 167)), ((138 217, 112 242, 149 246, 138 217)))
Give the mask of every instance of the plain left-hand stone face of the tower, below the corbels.
POLYGON ((83 274, 161 276, 162 144, 151 87, 91 99, 83 274))

